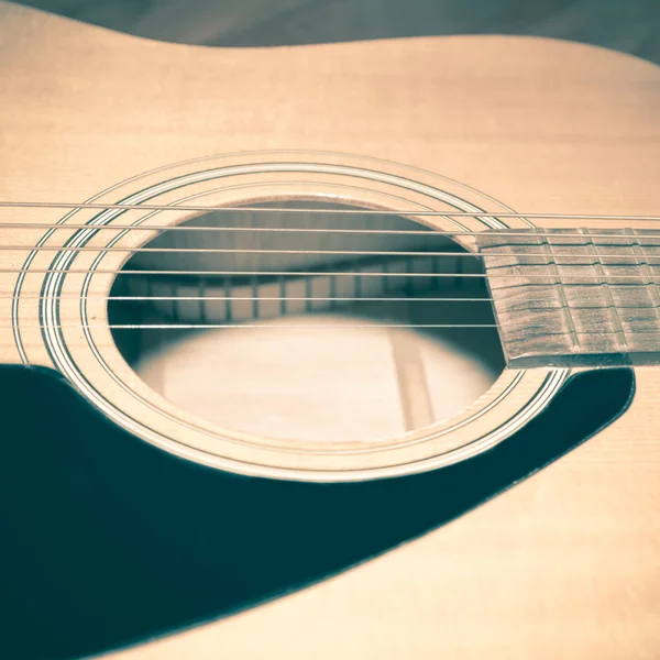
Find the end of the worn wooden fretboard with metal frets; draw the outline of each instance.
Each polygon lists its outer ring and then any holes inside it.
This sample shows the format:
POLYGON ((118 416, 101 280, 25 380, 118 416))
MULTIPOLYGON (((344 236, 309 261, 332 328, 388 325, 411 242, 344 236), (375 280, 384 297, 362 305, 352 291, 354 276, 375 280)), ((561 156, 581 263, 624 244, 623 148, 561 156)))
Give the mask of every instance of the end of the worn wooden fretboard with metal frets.
POLYGON ((477 244, 509 366, 660 362, 660 231, 503 230, 477 244))

